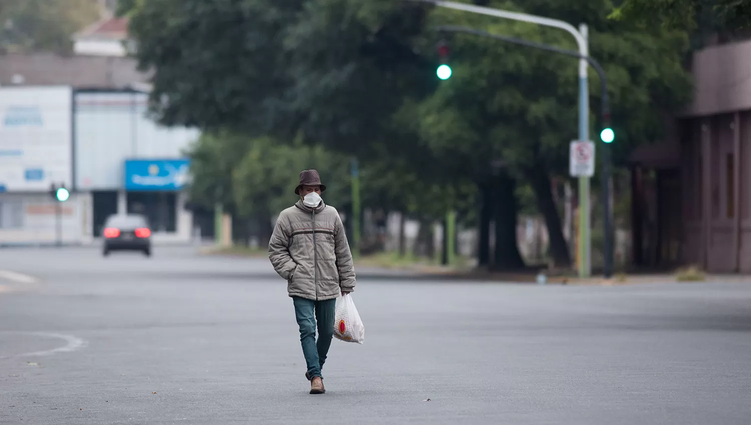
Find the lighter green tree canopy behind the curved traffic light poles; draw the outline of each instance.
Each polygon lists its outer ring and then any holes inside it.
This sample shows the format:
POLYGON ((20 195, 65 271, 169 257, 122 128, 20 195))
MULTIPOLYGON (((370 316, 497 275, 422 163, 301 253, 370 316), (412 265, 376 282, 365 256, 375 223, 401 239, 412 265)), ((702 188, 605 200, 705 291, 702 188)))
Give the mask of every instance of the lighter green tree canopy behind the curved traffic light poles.
MULTIPOLYGON (((687 49, 685 33, 650 33, 625 22, 608 21, 607 1, 597 13, 590 10, 590 2, 568 4, 565 10, 562 6, 550 10, 550 1, 524 4, 530 13, 561 19, 566 14, 591 16, 590 52, 608 75, 614 130, 619 135, 616 160, 623 160, 634 145, 658 139, 663 112, 689 100, 689 74, 680 66, 687 49), (561 16, 556 16, 558 13, 561 16)), ((509 1, 490 5, 518 10, 509 1)), ((562 31, 526 23, 443 9, 436 9, 430 22, 575 49, 573 38, 562 31)), ((424 44, 433 38, 427 34, 424 44)), ((566 146, 578 136, 578 61, 476 35, 451 35, 450 44, 454 76, 419 106, 421 137, 434 151, 461 157, 478 172, 488 172, 493 160, 502 160, 517 174, 540 168, 564 174, 566 146)), ((590 93, 591 110, 598 111, 599 81, 592 70, 590 93)), ((597 123, 598 114, 592 113, 590 121, 597 123)))

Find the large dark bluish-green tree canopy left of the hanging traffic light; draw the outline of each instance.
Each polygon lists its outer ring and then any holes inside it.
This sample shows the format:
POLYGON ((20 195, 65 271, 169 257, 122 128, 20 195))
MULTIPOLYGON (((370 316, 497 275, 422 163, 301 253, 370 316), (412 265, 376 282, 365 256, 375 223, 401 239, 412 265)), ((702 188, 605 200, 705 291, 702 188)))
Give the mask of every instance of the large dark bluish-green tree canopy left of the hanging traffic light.
MULTIPOLYGON (((412 43, 426 14, 420 5, 155 0, 125 13, 140 67, 155 71, 151 109, 163 124, 321 144, 365 167, 391 163, 378 177, 393 177, 384 188, 403 187, 406 175, 430 182, 430 190, 460 180, 452 158, 435 157, 395 119, 406 98, 419 100, 435 86, 426 77, 432 64, 412 43)), ((391 206, 415 204, 408 194, 391 206)), ((421 212, 428 202, 419 202, 421 212)))

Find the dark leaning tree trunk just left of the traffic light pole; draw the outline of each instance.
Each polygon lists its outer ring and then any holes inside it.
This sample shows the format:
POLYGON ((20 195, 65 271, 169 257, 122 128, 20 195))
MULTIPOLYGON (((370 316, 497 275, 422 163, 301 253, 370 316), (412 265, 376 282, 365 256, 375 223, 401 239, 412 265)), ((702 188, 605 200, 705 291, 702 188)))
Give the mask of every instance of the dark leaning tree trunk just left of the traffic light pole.
POLYGON ((553 202, 553 192, 550 190, 550 176, 546 171, 536 169, 529 173, 532 190, 537 197, 537 206, 545 219, 547 235, 550 240, 550 255, 556 268, 571 267, 571 253, 566 239, 563 238, 561 219, 553 202))

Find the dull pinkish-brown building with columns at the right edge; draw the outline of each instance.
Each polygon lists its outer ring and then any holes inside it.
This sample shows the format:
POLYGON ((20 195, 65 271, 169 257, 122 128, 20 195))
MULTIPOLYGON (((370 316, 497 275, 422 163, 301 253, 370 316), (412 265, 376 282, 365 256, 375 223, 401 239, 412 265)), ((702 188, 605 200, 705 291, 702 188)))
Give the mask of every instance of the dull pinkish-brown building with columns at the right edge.
POLYGON ((751 273, 751 40, 692 61, 695 97, 632 161, 634 259, 751 273))

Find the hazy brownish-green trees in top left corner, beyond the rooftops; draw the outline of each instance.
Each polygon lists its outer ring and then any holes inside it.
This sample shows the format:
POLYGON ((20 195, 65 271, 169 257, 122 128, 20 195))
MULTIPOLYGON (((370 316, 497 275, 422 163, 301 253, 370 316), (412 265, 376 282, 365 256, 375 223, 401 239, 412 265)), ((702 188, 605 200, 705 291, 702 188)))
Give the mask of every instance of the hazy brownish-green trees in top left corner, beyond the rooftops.
POLYGON ((96 0, 0 1, 0 49, 71 52, 73 35, 99 18, 96 0))

